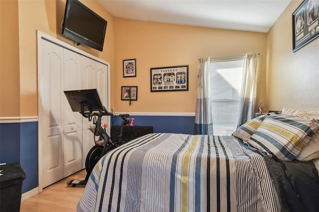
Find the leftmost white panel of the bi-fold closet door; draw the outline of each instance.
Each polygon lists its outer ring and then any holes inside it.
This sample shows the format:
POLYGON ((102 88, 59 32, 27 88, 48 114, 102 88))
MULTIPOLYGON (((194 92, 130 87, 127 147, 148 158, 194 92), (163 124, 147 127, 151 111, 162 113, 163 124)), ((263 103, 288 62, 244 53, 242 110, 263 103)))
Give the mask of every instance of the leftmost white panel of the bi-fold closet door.
MULTIPOLYGON (((41 48, 42 188, 63 178, 63 117, 61 73, 63 48, 43 41, 41 48)), ((64 95, 64 94, 63 94, 64 95)))

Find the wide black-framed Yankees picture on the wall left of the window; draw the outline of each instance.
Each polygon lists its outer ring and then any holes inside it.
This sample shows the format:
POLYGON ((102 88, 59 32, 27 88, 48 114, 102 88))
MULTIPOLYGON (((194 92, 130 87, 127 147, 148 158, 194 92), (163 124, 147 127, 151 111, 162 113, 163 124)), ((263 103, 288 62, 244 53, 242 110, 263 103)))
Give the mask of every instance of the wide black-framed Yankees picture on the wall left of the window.
POLYGON ((151 68, 151 92, 188 91, 188 65, 151 68))

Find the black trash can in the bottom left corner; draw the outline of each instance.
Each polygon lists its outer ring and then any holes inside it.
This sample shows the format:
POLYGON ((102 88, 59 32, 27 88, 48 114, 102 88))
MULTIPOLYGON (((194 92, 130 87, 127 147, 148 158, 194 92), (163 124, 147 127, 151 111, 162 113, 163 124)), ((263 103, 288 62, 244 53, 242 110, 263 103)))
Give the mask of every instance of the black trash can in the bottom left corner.
POLYGON ((25 173, 19 163, 0 166, 0 212, 19 212, 25 173))

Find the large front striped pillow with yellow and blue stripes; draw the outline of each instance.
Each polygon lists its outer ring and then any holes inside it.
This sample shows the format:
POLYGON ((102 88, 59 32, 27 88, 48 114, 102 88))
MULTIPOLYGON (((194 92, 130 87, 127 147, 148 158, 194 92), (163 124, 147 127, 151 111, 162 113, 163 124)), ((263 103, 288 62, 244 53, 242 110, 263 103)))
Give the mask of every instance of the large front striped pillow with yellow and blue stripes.
POLYGON ((285 114, 269 115, 248 143, 268 155, 291 161, 318 130, 318 119, 285 114))

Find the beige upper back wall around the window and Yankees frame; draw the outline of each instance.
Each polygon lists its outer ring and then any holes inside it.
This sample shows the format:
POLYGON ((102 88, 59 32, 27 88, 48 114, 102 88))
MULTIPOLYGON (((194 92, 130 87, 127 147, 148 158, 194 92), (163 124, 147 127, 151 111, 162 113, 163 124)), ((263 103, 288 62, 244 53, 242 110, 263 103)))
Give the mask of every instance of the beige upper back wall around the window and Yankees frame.
POLYGON ((267 34, 114 18, 116 112, 195 112, 200 57, 259 52, 257 100, 266 98, 267 34), (137 60, 137 77, 123 78, 123 60, 137 60), (152 92, 151 68, 188 65, 189 91, 152 92), (121 101, 122 86, 138 86, 138 101, 121 101))

